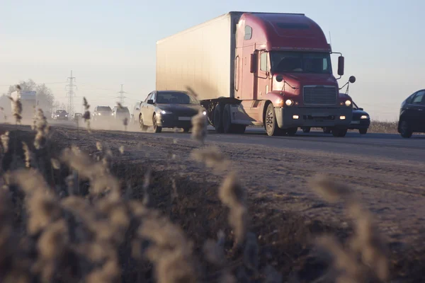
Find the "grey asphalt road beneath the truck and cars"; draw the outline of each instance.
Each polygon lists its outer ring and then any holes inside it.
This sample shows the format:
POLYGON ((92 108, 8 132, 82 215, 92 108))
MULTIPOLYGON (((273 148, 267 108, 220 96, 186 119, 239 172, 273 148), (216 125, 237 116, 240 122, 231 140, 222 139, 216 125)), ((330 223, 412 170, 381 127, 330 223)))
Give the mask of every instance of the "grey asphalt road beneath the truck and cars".
MULTIPOLYGON (((53 125, 74 127, 72 122, 51 122, 53 125)), ((152 132, 140 132, 137 127, 129 127, 137 135, 152 135, 152 132)), ((156 137, 169 139, 191 139, 191 134, 163 129, 156 137)), ((213 127, 208 127, 207 142, 226 142, 233 144, 252 144, 281 149, 302 149, 307 151, 322 151, 333 154, 348 154, 353 156, 368 156, 397 161, 416 161, 425 163, 425 135, 414 135, 403 139, 398 134, 358 134, 348 132, 346 137, 333 137, 323 132, 303 133, 301 130, 293 137, 268 137, 262 128, 247 127, 245 134, 216 134, 213 127)), ((349 157, 349 156, 348 156, 349 157)))

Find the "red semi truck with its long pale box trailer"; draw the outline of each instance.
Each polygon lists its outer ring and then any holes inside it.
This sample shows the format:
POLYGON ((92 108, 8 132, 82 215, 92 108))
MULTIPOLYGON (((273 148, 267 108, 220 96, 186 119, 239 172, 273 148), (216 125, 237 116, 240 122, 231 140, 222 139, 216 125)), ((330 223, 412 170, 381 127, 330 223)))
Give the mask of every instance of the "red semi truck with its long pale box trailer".
POLYGON ((332 53, 304 14, 229 12, 157 42, 156 88, 196 93, 219 133, 322 127, 344 137, 352 100, 339 93, 344 57, 336 79, 332 53))

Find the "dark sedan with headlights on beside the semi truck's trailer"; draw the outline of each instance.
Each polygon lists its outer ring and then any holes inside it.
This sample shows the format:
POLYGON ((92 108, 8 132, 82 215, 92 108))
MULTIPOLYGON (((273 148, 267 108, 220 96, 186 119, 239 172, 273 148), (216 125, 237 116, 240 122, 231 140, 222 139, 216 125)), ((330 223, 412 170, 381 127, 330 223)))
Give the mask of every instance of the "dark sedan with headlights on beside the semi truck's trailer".
POLYGON ((199 100, 186 91, 152 91, 140 104, 140 129, 153 127, 154 132, 161 132, 163 127, 177 127, 188 132, 199 111, 207 115, 199 100))

